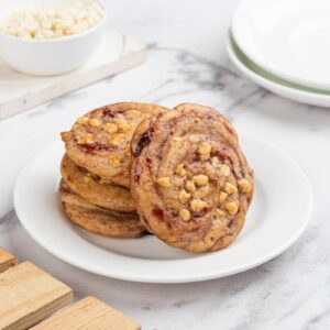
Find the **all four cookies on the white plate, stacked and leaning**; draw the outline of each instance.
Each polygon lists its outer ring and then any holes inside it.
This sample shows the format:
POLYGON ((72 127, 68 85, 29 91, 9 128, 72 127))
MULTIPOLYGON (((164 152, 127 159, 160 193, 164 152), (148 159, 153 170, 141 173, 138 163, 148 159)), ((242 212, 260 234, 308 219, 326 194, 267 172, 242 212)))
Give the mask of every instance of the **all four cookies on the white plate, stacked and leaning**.
POLYGON ((61 198, 85 229, 117 238, 148 231, 190 252, 223 249, 240 233, 253 172, 218 111, 117 103, 85 114, 62 136, 61 198))

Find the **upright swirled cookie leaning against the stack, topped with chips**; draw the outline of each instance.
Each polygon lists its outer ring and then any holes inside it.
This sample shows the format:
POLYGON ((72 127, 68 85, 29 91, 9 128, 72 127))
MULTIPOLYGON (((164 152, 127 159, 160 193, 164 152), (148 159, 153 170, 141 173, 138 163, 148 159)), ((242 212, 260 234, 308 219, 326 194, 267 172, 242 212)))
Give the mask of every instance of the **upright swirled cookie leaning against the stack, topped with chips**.
POLYGON ((191 252, 223 249, 237 238, 253 196, 253 170, 223 116, 179 105, 143 121, 131 147, 131 193, 150 231, 191 252))

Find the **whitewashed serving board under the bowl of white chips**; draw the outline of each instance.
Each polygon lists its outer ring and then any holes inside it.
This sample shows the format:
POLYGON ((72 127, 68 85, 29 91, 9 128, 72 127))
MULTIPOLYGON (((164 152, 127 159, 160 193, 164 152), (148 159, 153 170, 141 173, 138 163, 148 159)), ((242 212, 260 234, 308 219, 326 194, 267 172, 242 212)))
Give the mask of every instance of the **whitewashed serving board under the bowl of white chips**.
POLYGON ((106 30, 100 45, 80 68, 65 75, 19 74, 0 62, 0 120, 144 62, 146 46, 129 35, 106 30))

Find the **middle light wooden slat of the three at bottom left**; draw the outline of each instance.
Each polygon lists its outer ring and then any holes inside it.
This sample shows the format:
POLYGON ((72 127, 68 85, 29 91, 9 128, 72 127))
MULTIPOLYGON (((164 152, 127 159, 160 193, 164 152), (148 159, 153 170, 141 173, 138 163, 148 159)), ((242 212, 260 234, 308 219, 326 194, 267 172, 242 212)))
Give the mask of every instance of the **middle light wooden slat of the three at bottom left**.
POLYGON ((0 329, 26 329, 73 299, 73 290, 30 262, 0 274, 0 329))

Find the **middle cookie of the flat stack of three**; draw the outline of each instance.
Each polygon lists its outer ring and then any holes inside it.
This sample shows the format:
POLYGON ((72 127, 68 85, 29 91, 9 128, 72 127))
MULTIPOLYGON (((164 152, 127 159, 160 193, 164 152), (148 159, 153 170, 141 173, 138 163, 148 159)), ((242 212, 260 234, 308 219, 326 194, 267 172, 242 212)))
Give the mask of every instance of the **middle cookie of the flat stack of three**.
POLYGON ((90 204, 119 212, 136 210, 128 188, 105 183, 103 179, 91 175, 84 167, 77 166, 66 154, 61 163, 61 173, 70 190, 90 204))

